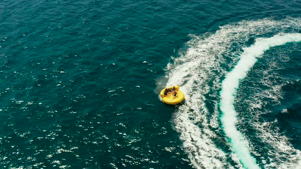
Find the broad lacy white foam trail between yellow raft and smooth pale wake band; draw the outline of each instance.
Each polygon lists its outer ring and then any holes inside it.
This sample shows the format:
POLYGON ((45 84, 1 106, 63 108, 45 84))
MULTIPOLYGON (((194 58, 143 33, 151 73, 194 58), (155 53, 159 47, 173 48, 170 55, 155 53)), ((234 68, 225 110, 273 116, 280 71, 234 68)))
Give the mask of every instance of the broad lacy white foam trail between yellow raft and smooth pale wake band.
MULTIPOLYGON (((239 60, 245 43, 254 36, 269 36, 285 32, 290 27, 301 28, 301 20, 288 18, 281 21, 262 19, 257 21, 241 21, 221 26, 214 34, 206 36, 190 35, 188 49, 180 52, 180 57, 172 58, 173 62, 166 68, 167 86, 180 85, 186 94, 186 103, 194 109, 188 111, 184 107, 176 109, 172 124, 180 133, 183 150, 196 168, 229 168, 242 167, 235 150, 225 153, 227 148, 216 145, 216 136, 206 125, 216 128, 215 132, 223 134, 219 120, 219 91, 221 78, 227 74, 239 60), (212 110, 206 107, 206 95, 210 94, 212 110), (210 116, 210 119, 207 117, 210 116), (229 162, 232 161, 232 162, 229 162)), ((289 31, 288 31, 289 32, 289 31)), ((240 120, 240 119, 238 119, 240 120)), ((223 137, 223 139, 226 139, 223 137)), ((280 137, 279 139, 283 139, 280 137)), ((262 140, 264 142, 264 140, 262 140)), ((247 146, 247 145, 243 145, 247 146)), ((291 145, 291 152, 296 152, 291 145)), ((250 147, 249 151, 256 154, 250 147)), ((286 151, 286 150, 281 150, 286 151)), ((296 156, 296 158, 299 158, 296 156)), ((287 160, 287 166, 291 161, 287 160)), ((261 161, 257 161, 262 164, 261 161)), ((286 165, 286 164, 284 164, 286 165)))

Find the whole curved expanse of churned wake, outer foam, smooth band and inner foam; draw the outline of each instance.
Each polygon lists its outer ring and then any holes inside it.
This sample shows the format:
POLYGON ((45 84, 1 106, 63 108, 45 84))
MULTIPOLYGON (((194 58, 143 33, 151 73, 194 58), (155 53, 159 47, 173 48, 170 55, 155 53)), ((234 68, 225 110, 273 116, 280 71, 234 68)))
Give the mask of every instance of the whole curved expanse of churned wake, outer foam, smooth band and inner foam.
MULTIPOLYGON (((266 90, 263 91, 255 86, 252 87, 253 91, 260 90, 265 93, 251 92, 254 97, 242 97, 244 103, 249 103, 249 106, 236 105, 238 108, 245 109, 239 117, 236 117, 237 113, 234 110, 235 96, 233 95, 238 88, 239 79, 246 76, 246 72, 255 64, 257 57, 261 57, 261 54, 272 46, 299 41, 300 34, 295 33, 300 30, 301 19, 298 18, 278 21, 260 19, 222 25, 215 33, 202 36, 189 35, 191 40, 186 43, 187 48, 180 50, 179 57, 172 58, 172 62, 166 67, 165 77, 168 79, 166 86, 181 86, 181 91, 185 93, 186 104, 194 109, 191 112, 185 107, 179 107, 175 109, 171 119, 173 129, 179 133, 182 140, 182 149, 194 168, 258 168, 259 166, 296 168, 299 166, 301 152, 290 144, 288 137, 280 133, 277 122, 262 123, 264 119, 260 116, 269 113, 269 109, 263 106, 271 104, 268 101, 270 99, 265 100, 267 97, 278 100, 282 96, 282 90, 279 88, 282 84, 278 81, 272 84, 269 81, 269 77, 274 78, 274 75, 264 74, 264 78, 257 79, 256 82, 262 83, 266 90), (258 38, 256 42, 253 41, 256 37, 273 35, 277 36, 267 39, 258 38), (243 48, 250 43, 254 45, 243 48), (233 70, 234 72, 228 74, 231 77, 231 80, 228 80, 231 82, 230 85, 221 84, 220 79, 235 65, 237 65, 235 69, 242 72, 235 73, 233 70), (219 91, 224 92, 223 98, 219 91), (224 108, 222 117, 220 117, 221 108, 224 108), (228 114, 229 110, 231 110, 230 114, 228 114), (250 115, 249 123, 244 126, 248 115, 250 115), (223 118, 223 121, 220 118, 223 118), (237 131, 235 125, 240 127, 241 133, 237 131), (232 145, 230 153, 206 126, 212 128, 222 139, 230 138, 228 141, 232 145), (220 126, 227 135, 223 135, 220 126), (254 129, 254 132, 246 131, 248 127, 254 129), (243 153, 246 153, 246 156, 243 153), (256 160, 250 154, 256 156, 256 160)), ((271 61, 270 65, 273 64, 275 63, 271 61)), ((228 76, 226 77, 229 78, 228 76)), ((239 99, 237 97, 235 101, 239 99)))

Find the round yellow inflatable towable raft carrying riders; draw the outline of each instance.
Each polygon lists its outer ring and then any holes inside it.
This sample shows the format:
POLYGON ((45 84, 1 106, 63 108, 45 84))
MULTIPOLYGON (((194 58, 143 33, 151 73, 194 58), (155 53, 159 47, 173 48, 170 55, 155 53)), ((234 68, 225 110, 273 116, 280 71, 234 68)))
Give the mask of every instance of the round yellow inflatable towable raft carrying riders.
POLYGON ((180 91, 180 87, 174 86, 175 91, 177 92, 177 95, 175 97, 173 96, 172 88, 173 88, 173 86, 167 87, 161 91, 160 96, 162 97, 162 101, 166 104, 178 104, 178 103, 182 102, 185 99, 185 96, 184 96, 184 93, 182 91, 180 91), (165 95, 166 93, 164 94, 166 89, 171 90, 171 92, 168 92, 167 95, 165 95))

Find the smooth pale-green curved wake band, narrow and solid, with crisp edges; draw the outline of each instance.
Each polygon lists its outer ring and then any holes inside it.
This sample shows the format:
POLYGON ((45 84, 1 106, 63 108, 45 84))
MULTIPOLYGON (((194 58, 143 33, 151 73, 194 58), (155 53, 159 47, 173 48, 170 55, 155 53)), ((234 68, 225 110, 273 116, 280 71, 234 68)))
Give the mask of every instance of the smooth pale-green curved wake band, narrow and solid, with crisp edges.
POLYGON ((264 51, 270 47, 283 45, 288 42, 301 41, 301 34, 279 34, 271 38, 258 38, 254 45, 243 48, 240 60, 234 69, 225 76, 222 81, 220 92, 220 109, 223 112, 221 123, 227 136, 230 138, 234 153, 237 154, 240 162, 246 168, 259 168, 256 159, 252 157, 248 148, 248 142, 237 130, 237 112, 234 107, 236 90, 239 87, 239 80, 246 77, 247 72, 256 63, 264 51))

